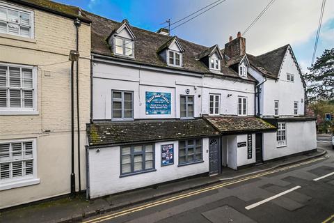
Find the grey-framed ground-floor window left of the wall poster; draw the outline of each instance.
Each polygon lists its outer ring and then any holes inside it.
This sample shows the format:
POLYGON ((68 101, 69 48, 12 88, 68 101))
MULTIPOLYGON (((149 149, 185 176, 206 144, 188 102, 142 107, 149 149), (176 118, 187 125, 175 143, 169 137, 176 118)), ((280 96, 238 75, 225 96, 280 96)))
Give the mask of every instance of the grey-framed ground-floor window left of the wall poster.
POLYGON ((120 174, 134 174, 154 169, 154 145, 144 144, 120 148, 120 174))

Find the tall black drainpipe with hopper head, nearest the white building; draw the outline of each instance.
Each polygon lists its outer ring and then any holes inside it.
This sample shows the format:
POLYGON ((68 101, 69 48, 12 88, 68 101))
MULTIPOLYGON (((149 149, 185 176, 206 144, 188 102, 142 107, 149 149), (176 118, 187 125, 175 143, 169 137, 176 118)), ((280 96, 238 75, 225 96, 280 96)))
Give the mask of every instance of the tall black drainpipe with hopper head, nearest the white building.
MULTIPOLYGON (((74 26, 77 31, 77 52, 79 52, 79 26, 80 20, 77 18, 74 20, 74 26)), ((77 61, 77 125, 78 125, 78 181, 79 192, 81 192, 81 168, 80 168, 80 118, 79 118, 79 60, 77 61)))

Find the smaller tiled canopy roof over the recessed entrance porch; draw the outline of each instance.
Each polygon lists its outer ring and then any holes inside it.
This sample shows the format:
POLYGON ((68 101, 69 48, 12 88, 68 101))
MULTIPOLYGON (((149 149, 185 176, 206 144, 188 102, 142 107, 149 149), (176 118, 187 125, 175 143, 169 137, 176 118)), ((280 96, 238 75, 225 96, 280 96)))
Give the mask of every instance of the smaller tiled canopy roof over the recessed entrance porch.
POLYGON ((250 116, 205 116, 222 134, 276 130, 276 127, 261 118, 250 116))

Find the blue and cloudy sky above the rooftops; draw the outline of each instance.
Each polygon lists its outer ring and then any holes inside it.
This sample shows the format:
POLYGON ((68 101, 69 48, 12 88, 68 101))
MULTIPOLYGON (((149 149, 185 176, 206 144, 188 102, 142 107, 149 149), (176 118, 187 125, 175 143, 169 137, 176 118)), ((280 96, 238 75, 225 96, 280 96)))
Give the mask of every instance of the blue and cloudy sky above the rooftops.
MULTIPOLYGON (((54 0, 132 26, 157 31, 216 0, 54 0)), ((269 0, 225 0, 171 31, 193 43, 224 48, 229 36, 243 33, 269 0)), ((321 0, 276 0, 246 33, 246 52, 259 55, 289 43, 303 72, 311 66, 321 0)), ((177 24, 175 24, 177 25, 177 24)), ((173 28, 173 26, 172 26, 173 28)), ((334 47, 334 0, 327 0, 316 56, 334 47)))

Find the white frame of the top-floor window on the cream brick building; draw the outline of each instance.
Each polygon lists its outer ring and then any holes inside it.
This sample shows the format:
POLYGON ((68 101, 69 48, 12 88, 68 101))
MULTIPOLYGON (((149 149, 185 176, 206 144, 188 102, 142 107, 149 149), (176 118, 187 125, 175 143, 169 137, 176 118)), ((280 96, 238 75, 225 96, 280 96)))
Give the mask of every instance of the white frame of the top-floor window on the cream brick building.
MULTIPOLYGON (((30 38, 30 39, 35 38, 35 32, 34 32, 34 28, 35 28, 35 27, 34 27, 34 24, 35 24, 35 22, 34 22, 34 13, 33 13, 33 10, 28 10, 28 9, 26 9, 26 8, 17 7, 17 6, 14 6, 14 5, 12 5, 12 4, 4 3, 4 2, 1 2, 1 1, 0 1, 0 7, 1 7, 1 8, 6 8, 6 11, 7 11, 8 9, 10 9, 10 10, 15 10, 15 11, 17 11, 17 12, 19 12, 19 13, 22 12, 22 13, 27 13, 27 14, 30 15, 30 24, 29 24, 30 31, 29 31, 29 37, 27 37, 27 36, 22 36, 22 35, 20 35, 20 33, 18 33, 18 34, 16 34, 16 33, 9 33, 9 32, 8 32, 8 25, 7 25, 7 31, 6 31, 6 33, 5 33, 5 32, 0 32, 0 36, 1 36, 1 34, 5 34, 5 35, 10 35, 10 36, 19 36, 19 37, 22 37, 22 38, 30 38)), ((8 15, 8 13, 7 13, 6 15, 8 15)), ((6 22, 6 23, 8 24, 8 20, 1 20, 1 19, 0 19, 0 22, 6 22)), ((12 22, 12 23, 15 23, 15 22, 12 22)), ((20 22, 19 22, 19 23, 15 23, 15 24, 19 24, 19 27, 21 26, 20 22)), ((22 26, 24 26, 24 25, 22 25, 22 26)), ((28 26, 26 26, 26 27, 28 27, 28 26)), ((20 32, 20 30, 21 30, 21 29, 19 29, 19 32, 20 32)))

